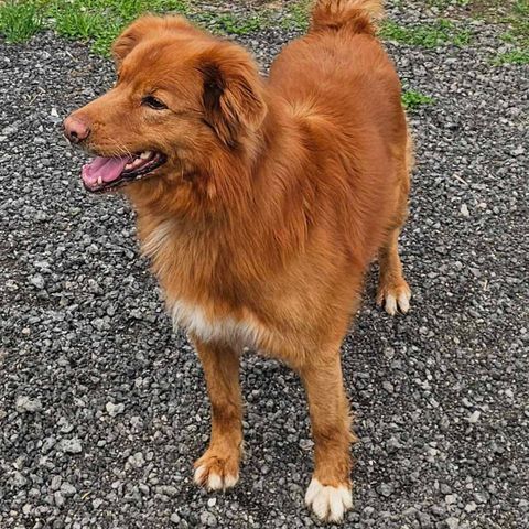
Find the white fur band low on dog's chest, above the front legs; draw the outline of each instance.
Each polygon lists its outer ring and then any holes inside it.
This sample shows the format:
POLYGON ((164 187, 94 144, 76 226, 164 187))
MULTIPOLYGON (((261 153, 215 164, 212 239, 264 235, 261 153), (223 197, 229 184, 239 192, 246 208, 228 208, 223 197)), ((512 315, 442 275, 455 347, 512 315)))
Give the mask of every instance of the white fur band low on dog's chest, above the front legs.
POLYGON ((198 305, 180 300, 170 304, 170 310, 175 327, 185 327, 204 342, 238 342, 251 346, 260 334, 256 322, 229 316, 210 320, 198 305))

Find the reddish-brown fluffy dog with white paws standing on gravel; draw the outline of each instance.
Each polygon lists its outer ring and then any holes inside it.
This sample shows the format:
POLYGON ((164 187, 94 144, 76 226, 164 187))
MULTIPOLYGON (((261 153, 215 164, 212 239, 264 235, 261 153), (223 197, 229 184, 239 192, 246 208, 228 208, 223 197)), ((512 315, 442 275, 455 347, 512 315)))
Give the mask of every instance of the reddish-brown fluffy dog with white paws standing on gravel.
POLYGON ((378 256, 378 302, 407 312, 398 238, 412 142, 378 0, 319 0, 306 35, 268 78, 238 44, 182 17, 144 15, 117 39, 117 83, 64 132, 95 160, 91 193, 121 191, 174 325, 194 344, 212 407, 194 481, 239 478, 245 347, 301 377, 314 439, 305 501, 352 507, 352 432, 341 344, 378 256))

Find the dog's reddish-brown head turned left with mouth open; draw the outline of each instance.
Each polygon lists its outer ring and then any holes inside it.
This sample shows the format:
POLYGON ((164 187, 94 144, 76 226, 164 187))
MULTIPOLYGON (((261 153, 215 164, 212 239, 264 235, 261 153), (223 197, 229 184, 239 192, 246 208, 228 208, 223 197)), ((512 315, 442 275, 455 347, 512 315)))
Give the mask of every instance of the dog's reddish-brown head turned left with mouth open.
POLYGON ((143 17, 112 47, 112 89, 64 121, 65 136, 96 158, 91 192, 207 171, 214 153, 244 150, 267 114, 261 80, 239 46, 181 17, 143 17))

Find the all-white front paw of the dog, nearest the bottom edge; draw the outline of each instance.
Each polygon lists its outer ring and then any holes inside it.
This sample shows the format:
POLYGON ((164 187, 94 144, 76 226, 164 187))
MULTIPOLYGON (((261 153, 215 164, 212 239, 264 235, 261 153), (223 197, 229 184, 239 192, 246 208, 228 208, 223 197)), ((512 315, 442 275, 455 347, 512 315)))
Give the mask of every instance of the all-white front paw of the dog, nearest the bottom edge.
POLYGON ((313 478, 305 494, 305 504, 323 521, 342 521, 353 507, 350 488, 323 486, 313 478))

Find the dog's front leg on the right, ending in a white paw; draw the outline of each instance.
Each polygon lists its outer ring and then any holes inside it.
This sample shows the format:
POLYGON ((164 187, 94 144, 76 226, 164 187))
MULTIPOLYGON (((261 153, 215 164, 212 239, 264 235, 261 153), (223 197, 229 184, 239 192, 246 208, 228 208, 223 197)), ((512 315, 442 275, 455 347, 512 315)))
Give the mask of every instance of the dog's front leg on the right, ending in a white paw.
POLYGON ((353 506, 350 414, 339 347, 309 357, 300 369, 314 438, 314 475, 305 501, 322 520, 339 521, 353 506))

